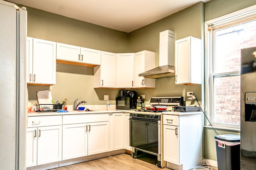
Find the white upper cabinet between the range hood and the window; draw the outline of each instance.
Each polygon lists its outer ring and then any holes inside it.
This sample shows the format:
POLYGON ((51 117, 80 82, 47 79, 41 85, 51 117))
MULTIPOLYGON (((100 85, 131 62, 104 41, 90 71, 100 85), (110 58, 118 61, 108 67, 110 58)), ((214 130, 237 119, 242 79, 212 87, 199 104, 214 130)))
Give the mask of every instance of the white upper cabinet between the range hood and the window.
POLYGON ((175 41, 175 83, 201 84, 201 40, 186 37, 175 41))

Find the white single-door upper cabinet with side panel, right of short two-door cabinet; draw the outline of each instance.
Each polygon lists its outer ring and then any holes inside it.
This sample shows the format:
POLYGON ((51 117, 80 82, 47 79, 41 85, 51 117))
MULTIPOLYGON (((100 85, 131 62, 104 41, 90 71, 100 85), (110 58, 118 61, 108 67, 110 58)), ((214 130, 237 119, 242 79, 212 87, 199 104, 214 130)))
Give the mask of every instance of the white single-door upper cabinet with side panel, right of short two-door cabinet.
POLYGON ((116 88, 116 54, 101 51, 101 65, 94 67, 94 88, 116 88))

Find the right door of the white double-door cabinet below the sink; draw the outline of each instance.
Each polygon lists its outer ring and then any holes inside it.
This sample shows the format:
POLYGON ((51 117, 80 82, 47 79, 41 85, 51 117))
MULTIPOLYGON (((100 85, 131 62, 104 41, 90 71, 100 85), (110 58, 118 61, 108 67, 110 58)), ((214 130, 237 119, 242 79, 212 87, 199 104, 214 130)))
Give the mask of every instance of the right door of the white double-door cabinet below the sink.
POLYGON ((88 123, 88 155, 109 151, 108 121, 88 123))

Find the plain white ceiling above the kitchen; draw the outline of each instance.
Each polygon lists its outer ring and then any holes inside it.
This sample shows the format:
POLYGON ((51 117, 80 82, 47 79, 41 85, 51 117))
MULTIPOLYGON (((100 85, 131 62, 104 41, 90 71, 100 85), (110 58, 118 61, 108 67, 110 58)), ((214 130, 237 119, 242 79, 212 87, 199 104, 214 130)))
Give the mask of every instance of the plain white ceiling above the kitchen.
POLYGON ((131 32, 200 1, 209 0, 9 0, 76 20, 131 32))

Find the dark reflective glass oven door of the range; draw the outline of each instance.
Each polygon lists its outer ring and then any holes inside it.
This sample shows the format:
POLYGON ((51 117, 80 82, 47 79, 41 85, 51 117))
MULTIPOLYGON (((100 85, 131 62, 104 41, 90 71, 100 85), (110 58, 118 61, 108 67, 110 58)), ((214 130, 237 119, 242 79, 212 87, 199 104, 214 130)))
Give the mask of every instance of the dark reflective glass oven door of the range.
POLYGON ((160 154, 160 121, 130 117, 130 146, 160 154))

